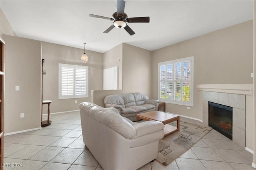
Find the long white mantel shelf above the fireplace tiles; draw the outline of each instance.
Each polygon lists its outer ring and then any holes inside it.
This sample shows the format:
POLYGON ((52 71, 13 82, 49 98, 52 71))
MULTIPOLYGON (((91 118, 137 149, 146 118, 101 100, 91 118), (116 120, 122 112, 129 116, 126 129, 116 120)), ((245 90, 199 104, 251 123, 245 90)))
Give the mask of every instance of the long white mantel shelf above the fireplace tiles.
POLYGON ((198 84, 199 91, 253 95, 253 84, 198 84))

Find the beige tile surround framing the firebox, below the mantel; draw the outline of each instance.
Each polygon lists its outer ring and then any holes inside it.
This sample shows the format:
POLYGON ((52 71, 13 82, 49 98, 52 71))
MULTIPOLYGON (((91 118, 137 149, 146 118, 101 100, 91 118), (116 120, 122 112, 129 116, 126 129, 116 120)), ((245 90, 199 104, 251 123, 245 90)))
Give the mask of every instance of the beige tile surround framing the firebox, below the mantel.
POLYGON ((203 123, 208 125, 208 102, 233 107, 233 141, 245 148, 245 95, 219 92, 202 93, 203 123))

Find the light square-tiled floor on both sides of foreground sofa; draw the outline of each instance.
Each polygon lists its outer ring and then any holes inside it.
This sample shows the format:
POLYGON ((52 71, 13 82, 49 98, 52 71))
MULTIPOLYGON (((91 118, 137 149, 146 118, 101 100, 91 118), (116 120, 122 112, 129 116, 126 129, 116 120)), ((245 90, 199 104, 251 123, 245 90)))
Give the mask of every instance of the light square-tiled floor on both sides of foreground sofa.
MULTIPOLYGON (((5 170, 102 170, 83 143, 79 111, 50 115, 50 119, 52 124, 40 130, 4 137, 4 165, 22 163, 20 168, 5 170)), ((250 152, 212 130, 168 166, 154 161, 140 170, 255 170, 252 159, 250 152)))

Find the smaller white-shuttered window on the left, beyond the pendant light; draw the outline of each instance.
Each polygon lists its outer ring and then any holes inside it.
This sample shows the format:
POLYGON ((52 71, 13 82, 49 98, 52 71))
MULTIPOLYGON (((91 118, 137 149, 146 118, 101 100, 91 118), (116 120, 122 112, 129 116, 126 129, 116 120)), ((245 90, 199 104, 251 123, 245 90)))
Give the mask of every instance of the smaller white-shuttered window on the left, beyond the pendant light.
POLYGON ((59 99, 88 98, 88 66, 59 64, 59 99))

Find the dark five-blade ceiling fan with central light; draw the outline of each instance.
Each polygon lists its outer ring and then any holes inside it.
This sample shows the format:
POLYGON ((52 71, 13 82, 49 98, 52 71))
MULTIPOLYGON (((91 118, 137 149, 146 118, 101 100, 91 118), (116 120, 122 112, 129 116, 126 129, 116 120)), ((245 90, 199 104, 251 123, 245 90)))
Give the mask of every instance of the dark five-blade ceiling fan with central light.
POLYGON ((117 28, 124 28, 130 35, 134 35, 135 32, 132 31, 132 29, 127 25, 126 22, 128 22, 128 23, 149 22, 149 17, 128 18, 128 16, 124 13, 124 6, 125 6, 124 0, 117 0, 117 12, 115 12, 112 15, 112 18, 108 18, 108 17, 104 17, 104 16, 97 16, 94 14, 89 14, 89 16, 114 21, 114 23, 110 27, 108 27, 108 29, 106 29, 106 31, 104 31, 103 33, 108 33, 114 27, 117 27, 117 28))

